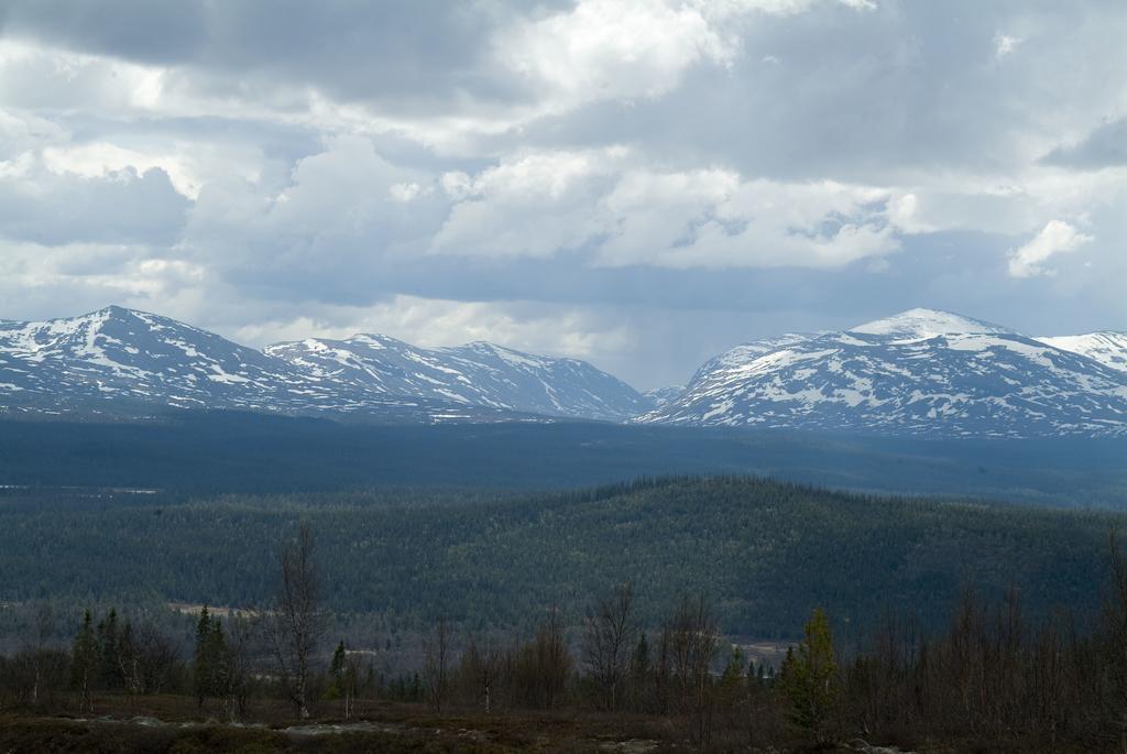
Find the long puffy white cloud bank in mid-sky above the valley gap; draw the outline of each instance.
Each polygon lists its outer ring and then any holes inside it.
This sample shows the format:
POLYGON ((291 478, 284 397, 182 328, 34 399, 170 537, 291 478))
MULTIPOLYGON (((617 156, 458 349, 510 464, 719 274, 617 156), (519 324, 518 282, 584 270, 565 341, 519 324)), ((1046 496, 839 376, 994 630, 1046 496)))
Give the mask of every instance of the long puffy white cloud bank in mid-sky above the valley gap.
POLYGON ((899 246, 885 189, 660 171, 623 150, 530 153, 477 177, 447 174, 443 185, 455 204, 436 254, 589 248, 601 267, 832 268, 899 246))

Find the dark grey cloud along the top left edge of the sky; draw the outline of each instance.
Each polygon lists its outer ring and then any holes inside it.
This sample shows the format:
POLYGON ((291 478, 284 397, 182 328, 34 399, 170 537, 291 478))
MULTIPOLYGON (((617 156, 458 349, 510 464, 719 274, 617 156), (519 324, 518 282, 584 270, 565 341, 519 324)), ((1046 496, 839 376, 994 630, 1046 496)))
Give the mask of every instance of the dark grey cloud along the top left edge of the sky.
POLYGON ((393 98, 427 109, 460 91, 511 98, 490 71, 488 39, 514 11, 495 3, 417 0, 8 0, 5 32, 137 63, 210 74, 214 94, 309 86, 340 100, 393 98))

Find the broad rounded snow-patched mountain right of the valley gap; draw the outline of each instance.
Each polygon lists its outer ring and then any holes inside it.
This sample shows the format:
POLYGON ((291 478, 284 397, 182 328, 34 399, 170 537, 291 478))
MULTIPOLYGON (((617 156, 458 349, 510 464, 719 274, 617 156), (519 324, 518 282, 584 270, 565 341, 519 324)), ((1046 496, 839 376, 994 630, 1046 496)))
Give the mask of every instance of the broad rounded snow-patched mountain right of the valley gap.
POLYGON ((637 422, 946 436, 1127 434, 1127 372, 950 312, 737 346, 637 422))

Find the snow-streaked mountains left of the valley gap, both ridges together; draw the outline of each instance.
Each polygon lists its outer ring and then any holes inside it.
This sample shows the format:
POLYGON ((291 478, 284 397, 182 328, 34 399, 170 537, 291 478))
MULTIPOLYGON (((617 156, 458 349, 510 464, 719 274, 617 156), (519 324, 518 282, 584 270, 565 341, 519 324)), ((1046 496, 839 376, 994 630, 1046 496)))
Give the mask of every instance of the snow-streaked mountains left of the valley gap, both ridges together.
MULTIPOLYGON (((372 348, 380 341, 366 336, 352 341, 362 340, 372 348)), ((638 410, 631 397, 641 405, 632 389, 589 364, 478 344, 449 351, 480 352, 471 376, 485 384, 492 370, 492 389, 458 392, 470 378, 426 360, 421 349, 398 345, 405 355, 387 365, 381 383, 372 376, 379 371, 371 360, 369 372, 341 367, 341 374, 319 366, 318 360, 327 364, 327 357, 317 348, 310 348, 317 357, 305 360, 287 346, 263 353, 119 307, 45 322, 0 320, 0 413, 147 416, 171 407, 443 422, 526 419, 529 414, 621 417, 638 410), (511 369, 502 373, 500 365, 511 369), (534 366, 542 410, 526 398, 534 366), (440 378, 451 389, 443 389, 440 378)))

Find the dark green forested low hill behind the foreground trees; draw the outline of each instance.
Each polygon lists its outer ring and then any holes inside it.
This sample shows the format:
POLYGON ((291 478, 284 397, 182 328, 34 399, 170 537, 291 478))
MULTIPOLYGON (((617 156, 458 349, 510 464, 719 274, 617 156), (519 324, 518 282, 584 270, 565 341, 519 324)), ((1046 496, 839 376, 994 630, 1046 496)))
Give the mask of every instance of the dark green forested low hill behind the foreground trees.
POLYGON ((336 613, 515 624, 631 582, 640 604, 703 589, 727 633, 790 638, 823 606, 849 639, 905 605, 937 626, 962 584, 987 598, 1013 586, 1033 615, 1094 612, 1124 517, 729 477, 535 495, 9 490, 0 601, 260 605, 300 522, 317 532, 336 613))

